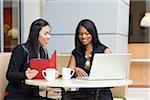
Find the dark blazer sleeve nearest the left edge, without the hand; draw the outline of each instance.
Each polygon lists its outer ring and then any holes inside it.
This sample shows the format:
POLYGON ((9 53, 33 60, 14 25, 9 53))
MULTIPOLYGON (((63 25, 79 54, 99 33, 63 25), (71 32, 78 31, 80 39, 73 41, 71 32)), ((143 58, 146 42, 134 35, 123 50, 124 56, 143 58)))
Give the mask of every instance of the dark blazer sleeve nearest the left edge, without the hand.
POLYGON ((7 80, 12 83, 20 83, 26 79, 25 70, 25 56, 21 46, 17 46, 11 55, 8 70, 6 73, 7 80))

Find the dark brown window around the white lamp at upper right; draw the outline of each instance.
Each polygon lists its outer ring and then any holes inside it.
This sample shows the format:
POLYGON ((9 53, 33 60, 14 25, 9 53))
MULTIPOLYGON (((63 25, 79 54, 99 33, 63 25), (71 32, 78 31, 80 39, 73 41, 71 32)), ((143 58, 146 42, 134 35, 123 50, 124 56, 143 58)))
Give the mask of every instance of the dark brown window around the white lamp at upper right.
POLYGON ((129 43, 149 43, 149 28, 141 27, 140 21, 147 9, 149 0, 131 0, 130 22, 129 22, 129 43))

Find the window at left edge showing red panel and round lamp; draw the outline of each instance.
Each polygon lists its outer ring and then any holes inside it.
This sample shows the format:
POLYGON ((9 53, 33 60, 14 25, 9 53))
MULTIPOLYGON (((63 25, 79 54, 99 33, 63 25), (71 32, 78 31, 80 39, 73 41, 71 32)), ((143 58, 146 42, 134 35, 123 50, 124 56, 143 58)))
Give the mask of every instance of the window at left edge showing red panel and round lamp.
POLYGON ((19 0, 4 0, 4 52, 19 43, 19 0))

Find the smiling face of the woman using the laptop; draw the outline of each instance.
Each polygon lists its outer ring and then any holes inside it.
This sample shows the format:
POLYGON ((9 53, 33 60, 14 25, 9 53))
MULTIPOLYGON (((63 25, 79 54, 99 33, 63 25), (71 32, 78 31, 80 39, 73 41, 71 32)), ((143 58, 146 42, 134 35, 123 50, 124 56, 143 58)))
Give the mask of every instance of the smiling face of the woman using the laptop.
POLYGON ((79 40, 85 46, 91 44, 92 41, 92 35, 82 26, 79 28, 79 40))

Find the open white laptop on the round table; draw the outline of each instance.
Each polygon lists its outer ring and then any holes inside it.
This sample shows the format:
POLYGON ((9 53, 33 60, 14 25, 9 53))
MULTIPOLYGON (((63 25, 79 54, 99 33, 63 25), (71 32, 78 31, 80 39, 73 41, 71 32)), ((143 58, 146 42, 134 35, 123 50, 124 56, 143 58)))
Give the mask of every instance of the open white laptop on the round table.
POLYGON ((131 54, 95 53, 88 77, 77 77, 86 80, 121 80, 127 79, 131 54))

